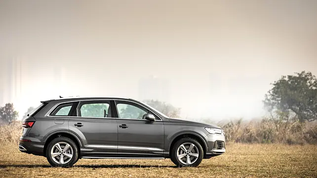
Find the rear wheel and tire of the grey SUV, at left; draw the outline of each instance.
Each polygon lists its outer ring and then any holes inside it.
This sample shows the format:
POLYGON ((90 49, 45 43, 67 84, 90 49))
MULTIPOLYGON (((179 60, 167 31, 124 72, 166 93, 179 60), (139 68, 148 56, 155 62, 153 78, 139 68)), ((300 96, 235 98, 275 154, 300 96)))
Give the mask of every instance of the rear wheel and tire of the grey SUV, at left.
POLYGON ((78 147, 73 140, 58 137, 48 143, 46 158, 53 167, 72 167, 79 158, 78 147), (67 150, 64 150, 65 147, 67 150))

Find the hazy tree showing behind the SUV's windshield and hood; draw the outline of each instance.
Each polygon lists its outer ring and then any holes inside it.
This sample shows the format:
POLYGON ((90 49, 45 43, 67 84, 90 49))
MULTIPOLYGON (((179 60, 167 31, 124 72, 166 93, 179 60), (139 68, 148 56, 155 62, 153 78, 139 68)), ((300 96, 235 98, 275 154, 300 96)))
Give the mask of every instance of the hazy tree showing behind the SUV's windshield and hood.
POLYGON ((177 118, 179 117, 179 114, 181 111, 181 108, 174 107, 170 104, 167 104, 165 102, 160 102, 158 100, 145 100, 144 103, 158 109, 160 112, 167 115, 168 117, 177 118))

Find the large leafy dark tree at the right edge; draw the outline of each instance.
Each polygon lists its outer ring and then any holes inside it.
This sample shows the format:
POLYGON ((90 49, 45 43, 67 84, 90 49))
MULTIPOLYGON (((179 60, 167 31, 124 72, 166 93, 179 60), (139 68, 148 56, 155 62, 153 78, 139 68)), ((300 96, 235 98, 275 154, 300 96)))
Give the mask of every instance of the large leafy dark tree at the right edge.
POLYGON ((311 72, 282 76, 265 95, 269 111, 294 112, 301 122, 317 119, 317 78, 311 72))

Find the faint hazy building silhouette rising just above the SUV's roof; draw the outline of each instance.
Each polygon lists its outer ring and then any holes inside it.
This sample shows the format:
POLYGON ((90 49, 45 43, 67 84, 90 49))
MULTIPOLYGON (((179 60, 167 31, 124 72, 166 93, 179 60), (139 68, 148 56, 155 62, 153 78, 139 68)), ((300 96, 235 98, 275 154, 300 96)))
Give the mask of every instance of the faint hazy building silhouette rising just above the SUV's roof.
POLYGON ((169 101, 168 80, 156 76, 150 76, 139 80, 139 100, 169 101))

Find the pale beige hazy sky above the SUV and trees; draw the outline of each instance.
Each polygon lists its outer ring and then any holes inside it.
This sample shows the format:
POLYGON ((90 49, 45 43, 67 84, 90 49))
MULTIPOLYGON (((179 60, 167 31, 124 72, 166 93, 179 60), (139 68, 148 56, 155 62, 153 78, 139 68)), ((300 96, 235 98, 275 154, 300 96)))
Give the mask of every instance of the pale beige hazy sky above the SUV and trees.
POLYGON ((280 75, 317 74, 317 0, 0 0, 1 81, 13 58, 20 113, 58 95, 138 99, 156 75, 182 117, 257 117, 280 75))

